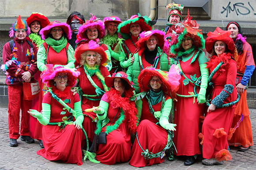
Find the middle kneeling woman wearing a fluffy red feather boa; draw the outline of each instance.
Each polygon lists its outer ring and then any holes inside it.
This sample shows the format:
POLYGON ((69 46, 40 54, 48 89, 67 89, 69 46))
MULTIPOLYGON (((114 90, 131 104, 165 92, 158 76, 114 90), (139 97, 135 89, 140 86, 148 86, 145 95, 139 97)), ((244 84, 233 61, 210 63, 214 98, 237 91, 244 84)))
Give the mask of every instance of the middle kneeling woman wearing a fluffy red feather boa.
POLYGON ((129 100, 134 88, 126 73, 117 72, 112 77, 105 77, 105 83, 111 89, 102 96, 100 106, 94 112, 99 119, 95 134, 105 132, 107 136, 106 143, 98 145, 96 159, 112 165, 130 159, 131 132, 134 134, 137 129, 137 109, 135 102, 129 100))

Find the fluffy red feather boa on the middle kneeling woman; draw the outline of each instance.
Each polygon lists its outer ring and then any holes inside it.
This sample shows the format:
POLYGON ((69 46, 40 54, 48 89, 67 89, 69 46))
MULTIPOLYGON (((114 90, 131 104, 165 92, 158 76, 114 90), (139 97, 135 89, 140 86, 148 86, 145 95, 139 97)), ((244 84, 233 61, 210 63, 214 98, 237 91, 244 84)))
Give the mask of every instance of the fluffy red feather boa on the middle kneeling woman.
POLYGON ((109 98, 109 104, 111 104, 114 109, 123 109, 124 115, 126 119, 128 119, 128 128, 130 129, 132 134, 135 134, 137 130, 136 123, 138 118, 136 115, 138 113, 138 110, 135 107, 135 102, 129 100, 129 98, 131 98, 133 95, 132 89, 124 91, 124 98, 121 97, 120 92, 117 91, 115 88, 111 88, 107 93, 109 98))

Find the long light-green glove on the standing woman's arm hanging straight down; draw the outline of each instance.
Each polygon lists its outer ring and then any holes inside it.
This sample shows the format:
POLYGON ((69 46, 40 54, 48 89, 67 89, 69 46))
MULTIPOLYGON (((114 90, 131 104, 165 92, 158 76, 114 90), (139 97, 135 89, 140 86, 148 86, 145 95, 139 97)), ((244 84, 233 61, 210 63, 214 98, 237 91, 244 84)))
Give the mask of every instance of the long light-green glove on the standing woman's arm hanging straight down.
POLYGON ((207 64, 200 64, 200 72, 201 72, 201 85, 200 85, 200 90, 198 93, 197 101, 199 103, 205 103, 205 93, 207 89, 207 84, 208 84, 208 77, 209 77, 209 71, 206 68, 207 64))

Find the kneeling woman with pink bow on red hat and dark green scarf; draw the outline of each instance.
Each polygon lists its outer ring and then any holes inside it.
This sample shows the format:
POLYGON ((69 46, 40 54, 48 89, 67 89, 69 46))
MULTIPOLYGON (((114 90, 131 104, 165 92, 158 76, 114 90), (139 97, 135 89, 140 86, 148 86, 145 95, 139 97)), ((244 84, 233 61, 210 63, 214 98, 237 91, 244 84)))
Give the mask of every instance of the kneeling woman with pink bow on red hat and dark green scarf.
POLYGON ((140 73, 140 90, 147 93, 136 104, 138 117, 141 118, 132 147, 130 165, 144 167, 164 161, 164 152, 172 145, 173 135, 170 130, 176 130, 176 124, 169 123, 169 114, 173 107, 170 92, 177 89, 180 79, 181 75, 174 65, 168 74, 154 68, 144 69, 140 73))

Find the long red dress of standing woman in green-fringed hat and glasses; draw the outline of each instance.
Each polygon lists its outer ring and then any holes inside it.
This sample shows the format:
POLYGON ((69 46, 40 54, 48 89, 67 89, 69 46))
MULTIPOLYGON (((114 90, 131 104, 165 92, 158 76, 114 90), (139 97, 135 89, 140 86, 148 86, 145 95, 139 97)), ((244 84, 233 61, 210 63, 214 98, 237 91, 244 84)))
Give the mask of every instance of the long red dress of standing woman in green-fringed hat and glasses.
MULTIPOLYGON (((194 53, 194 52, 193 52, 194 53)), ((190 75, 196 74, 196 77, 201 76, 200 66, 198 59, 196 59, 192 64, 191 57, 188 61, 181 61, 181 69, 185 76, 190 79, 190 75)), ((181 76, 180 88, 177 94, 190 95, 189 92, 194 92, 194 84, 188 83, 186 86, 183 84, 184 76, 181 76)), ((200 88, 197 88, 197 93, 199 93, 200 88)), ((176 131, 174 131, 173 142, 177 149, 177 156, 194 156, 196 154, 201 154, 200 142, 198 139, 198 134, 200 133, 200 115, 203 113, 204 105, 199 105, 196 99, 183 98, 177 96, 177 105, 174 123, 177 124, 176 131), (195 100, 195 102, 194 102, 195 100)))

